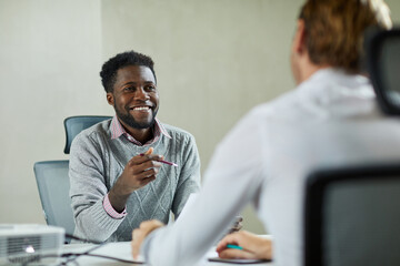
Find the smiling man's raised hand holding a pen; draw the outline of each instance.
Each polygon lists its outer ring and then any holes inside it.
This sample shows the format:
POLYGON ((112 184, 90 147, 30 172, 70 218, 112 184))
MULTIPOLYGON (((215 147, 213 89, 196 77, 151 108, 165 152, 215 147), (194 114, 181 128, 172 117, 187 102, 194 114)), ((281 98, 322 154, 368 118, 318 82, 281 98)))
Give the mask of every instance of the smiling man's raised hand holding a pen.
POLYGON ((156 180, 163 160, 162 155, 152 154, 150 147, 143 155, 132 157, 126 165, 121 176, 111 187, 109 198, 112 207, 117 212, 122 212, 130 194, 146 186, 156 180))

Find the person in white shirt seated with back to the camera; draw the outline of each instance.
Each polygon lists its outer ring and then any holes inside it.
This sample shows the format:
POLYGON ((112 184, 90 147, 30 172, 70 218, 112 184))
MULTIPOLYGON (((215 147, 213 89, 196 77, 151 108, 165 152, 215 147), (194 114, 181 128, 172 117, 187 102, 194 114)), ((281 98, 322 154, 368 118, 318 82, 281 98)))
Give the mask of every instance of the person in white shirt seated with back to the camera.
POLYGON ((320 166, 400 158, 400 124, 380 113, 361 75, 362 35, 371 25, 391 27, 383 1, 306 1, 291 47, 296 90, 256 106, 233 127, 218 145, 192 209, 169 227, 142 223, 133 231, 133 256, 140 252, 152 266, 194 265, 252 203, 273 243, 236 233, 221 241, 220 256, 301 265, 307 174, 320 166))

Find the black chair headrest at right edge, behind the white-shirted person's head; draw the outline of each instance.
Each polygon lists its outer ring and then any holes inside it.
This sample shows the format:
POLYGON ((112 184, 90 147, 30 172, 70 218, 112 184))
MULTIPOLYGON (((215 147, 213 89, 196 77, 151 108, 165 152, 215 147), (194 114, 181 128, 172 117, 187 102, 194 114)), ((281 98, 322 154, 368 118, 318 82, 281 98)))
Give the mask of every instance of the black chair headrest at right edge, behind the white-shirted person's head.
POLYGON ((389 115, 400 115, 400 28, 366 34, 366 62, 377 100, 389 115))

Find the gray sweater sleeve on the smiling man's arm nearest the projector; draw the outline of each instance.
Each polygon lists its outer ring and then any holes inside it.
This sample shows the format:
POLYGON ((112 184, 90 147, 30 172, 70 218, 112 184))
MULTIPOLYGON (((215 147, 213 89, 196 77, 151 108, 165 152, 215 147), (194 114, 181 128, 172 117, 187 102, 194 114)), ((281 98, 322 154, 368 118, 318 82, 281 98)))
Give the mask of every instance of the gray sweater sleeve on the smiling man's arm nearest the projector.
POLYGON ((103 207, 108 193, 100 136, 79 134, 70 152, 70 197, 78 237, 104 242, 124 218, 112 218, 103 207))

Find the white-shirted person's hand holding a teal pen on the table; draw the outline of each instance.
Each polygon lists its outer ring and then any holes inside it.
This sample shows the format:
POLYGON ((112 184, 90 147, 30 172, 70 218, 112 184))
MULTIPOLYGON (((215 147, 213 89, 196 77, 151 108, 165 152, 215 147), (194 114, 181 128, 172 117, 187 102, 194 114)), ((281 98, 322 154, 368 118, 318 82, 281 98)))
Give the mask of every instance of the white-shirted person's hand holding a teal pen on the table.
POLYGON ((217 253, 220 258, 271 259, 272 242, 247 231, 241 231, 223 237, 218 243, 217 253), (228 248, 228 244, 241 246, 243 249, 228 248))

